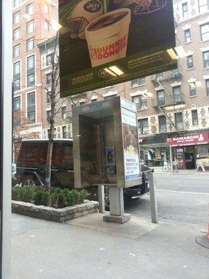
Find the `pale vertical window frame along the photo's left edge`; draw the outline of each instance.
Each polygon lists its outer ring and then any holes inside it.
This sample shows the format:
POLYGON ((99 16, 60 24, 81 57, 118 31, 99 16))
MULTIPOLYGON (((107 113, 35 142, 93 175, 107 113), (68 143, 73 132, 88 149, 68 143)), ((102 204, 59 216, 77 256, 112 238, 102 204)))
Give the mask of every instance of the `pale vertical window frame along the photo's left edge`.
POLYGON ((0 278, 10 279, 12 166, 12 1, 0 0, 0 278))

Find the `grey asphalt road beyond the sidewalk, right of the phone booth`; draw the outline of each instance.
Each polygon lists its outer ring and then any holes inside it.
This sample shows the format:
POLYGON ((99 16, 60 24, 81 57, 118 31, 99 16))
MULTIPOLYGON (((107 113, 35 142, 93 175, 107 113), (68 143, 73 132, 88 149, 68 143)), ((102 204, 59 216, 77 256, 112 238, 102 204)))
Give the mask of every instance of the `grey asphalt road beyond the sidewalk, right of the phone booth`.
MULTIPOLYGON (((159 220, 206 229, 209 176, 155 174, 159 220)), ((125 204, 125 212, 150 219, 150 196, 125 204)))

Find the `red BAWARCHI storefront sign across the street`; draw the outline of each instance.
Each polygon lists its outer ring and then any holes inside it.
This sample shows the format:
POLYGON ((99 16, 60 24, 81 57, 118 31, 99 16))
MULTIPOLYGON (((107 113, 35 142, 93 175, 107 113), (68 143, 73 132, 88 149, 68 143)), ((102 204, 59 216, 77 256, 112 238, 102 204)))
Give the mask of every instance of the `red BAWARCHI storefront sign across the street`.
POLYGON ((167 142, 172 146, 185 146, 185 145, 195 145, 195 144, 208 144, 209 133, 194 133, 194 134, 184 134, 176 135, 167 138, 167 142))

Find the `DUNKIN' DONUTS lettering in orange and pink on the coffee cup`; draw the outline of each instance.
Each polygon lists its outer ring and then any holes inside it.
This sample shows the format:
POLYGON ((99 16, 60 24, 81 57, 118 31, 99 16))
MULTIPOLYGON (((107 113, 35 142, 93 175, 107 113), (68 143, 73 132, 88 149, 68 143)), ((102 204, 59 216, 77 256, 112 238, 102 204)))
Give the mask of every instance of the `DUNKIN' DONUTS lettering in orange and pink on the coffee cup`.
POLYGON ((107 59, 122 52, 127 45, 127 35, 104 47, 90 47, 91 59, 107 59))

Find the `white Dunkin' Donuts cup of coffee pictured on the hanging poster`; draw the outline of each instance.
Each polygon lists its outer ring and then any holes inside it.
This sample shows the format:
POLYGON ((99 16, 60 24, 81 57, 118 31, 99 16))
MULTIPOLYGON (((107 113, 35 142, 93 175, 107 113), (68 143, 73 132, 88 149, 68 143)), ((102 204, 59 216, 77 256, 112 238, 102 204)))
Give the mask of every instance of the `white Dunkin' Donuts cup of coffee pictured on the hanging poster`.
POLYGON ((126 56, 131 10, 121 8, 93 20, 85 29, 91 66, 126 56))

